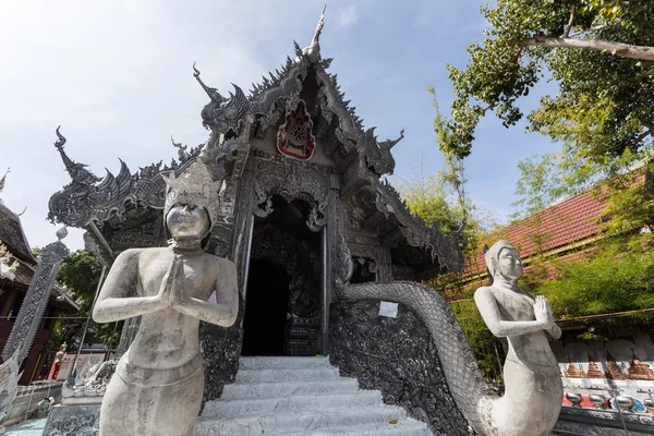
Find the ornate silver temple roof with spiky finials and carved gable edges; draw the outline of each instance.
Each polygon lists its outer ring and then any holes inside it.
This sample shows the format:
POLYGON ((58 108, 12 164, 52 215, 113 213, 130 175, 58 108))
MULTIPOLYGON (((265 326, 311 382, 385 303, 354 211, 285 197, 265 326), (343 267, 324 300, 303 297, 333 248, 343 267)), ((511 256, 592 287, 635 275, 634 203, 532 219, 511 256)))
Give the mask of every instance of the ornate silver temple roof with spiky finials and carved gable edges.
POLYGON ((199 156, 217 162, 216 179, 238 179, 252 140, 262 141, 270 130, 277 130, 287 113, 302 101, 311 114, 312 134, 322 145, 325 158, 332 162, 330 171, 340 174, 341 199, 358 209, 362 226, 383 235, 383 242, 391 247, 416 249, 407 257, 421 264, 422 269, 428 269, 427 264, 434 264, 438 257, 438 268, 460 270, 463 258, 458 234, 444 235, 437 228, 425 226, 408 211, 398 192, 385 181, 384 175, 392 174, 396 166, 391 148, 404 137, 404 132, 401 130, 397 138, 379 141, 375 128, 364 126, 337 75, 328 71, 331 59, 320 55, 324 12, 312 43, 304 49, 294 43, 294 57, 287 57, 280 69, 253 84, 247 94, 235 84, 233 92, 221 94, 204 83, 194 64, 193 76, 209 97, 201 114, 210 135, 206 144, 189 152, 175 144, 180 158, 170 166, 161 167, 159 162, 130 173, 121 161, 118 175, 107 171, 100 181, 66 156, 65 138, 58 132, 56 147, 72 182, 52 195, 48 218, 74 227, 112 222, 113 232, 133 228, 138 220, 152 218, 152 209, 162 208, 162 172, 177 174, 199 156), (125 225, 128 221, 131 223, 125 225))

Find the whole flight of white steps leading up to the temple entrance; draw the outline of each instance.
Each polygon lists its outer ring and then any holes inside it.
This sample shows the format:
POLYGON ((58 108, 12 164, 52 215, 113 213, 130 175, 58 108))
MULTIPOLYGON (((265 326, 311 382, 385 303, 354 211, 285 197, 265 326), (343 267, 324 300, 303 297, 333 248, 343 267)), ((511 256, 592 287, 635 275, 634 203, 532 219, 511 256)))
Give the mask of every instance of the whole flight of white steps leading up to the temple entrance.
POLYGON ((241 358, 237 379, 205 404, 196 436, 432 436, 402 408, 360 390, 325 358, 241 358))

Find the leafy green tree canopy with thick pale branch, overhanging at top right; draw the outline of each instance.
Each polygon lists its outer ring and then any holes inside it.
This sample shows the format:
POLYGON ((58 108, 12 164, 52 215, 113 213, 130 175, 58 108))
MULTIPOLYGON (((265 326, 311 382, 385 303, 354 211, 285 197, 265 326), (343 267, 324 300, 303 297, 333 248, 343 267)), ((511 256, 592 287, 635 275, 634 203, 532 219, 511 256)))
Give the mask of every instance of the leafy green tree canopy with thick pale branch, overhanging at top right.
POLYGON ((435 125, 443 150, 468 156, 489 111, 514 125, 520 97, 545 69, 558 94, 542 98, 529 129, 564 144, 559 160, 608 168, 651 147, 654 2, 498 0, 482 13, 486 39, 469 47, 465 69, 448 65, 456 99, 451 118, 435 125))

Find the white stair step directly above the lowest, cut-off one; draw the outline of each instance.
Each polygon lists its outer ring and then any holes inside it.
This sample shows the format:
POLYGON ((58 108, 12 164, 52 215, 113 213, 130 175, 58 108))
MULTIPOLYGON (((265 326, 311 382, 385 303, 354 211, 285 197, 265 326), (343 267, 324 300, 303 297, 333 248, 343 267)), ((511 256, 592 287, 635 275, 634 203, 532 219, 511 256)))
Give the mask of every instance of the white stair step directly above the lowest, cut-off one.
POLYGON ((311 432, 328 431, 330 428, 359 428, 360 426, 371 424, 385 425, 395 420, 403 421, 405 419, 407 413, 403 409, 391 405, 300 413, 272 413, 234 419, 201 417, 195 426, 195 435, 251 436, 275 433, 280 435, 292 433, 311 434, 311 432))

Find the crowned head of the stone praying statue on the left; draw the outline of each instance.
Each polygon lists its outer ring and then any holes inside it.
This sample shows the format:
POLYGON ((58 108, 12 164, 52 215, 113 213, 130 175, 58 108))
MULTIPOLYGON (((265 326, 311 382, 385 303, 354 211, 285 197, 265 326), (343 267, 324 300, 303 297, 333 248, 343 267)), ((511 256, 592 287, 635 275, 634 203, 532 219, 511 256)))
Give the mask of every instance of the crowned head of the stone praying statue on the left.
POLYGON ((165 226, 173 240, 203 240, 218 215, 221 183, 215 182, 207 166, 196 160, 178 178, 171 174, 164 206, 165 226))

